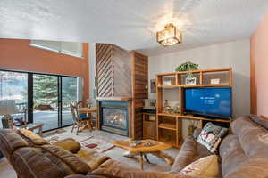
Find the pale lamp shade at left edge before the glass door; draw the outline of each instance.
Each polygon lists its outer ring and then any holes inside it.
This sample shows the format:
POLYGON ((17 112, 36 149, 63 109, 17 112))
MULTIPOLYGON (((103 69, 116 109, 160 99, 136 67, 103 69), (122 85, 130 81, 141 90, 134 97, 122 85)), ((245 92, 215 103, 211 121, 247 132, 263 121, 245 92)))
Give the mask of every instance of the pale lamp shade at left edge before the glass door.
POLYGON ((0 115, 19 113, 14 100, 0 101, 0 115))

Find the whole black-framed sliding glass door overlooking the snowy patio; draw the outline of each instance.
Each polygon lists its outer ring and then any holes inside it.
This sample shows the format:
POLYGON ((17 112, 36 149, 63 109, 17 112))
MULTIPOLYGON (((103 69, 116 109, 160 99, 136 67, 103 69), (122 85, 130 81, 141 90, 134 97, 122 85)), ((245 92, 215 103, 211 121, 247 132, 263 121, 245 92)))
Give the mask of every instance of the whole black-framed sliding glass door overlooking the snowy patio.
POLYGON ((0 102, 15 101, 14 118, 28 109, 26 121, 44 124, 44 131, 72 124, 70 104, 80 101, 81 86, 79 77, 0 70, 0 102))

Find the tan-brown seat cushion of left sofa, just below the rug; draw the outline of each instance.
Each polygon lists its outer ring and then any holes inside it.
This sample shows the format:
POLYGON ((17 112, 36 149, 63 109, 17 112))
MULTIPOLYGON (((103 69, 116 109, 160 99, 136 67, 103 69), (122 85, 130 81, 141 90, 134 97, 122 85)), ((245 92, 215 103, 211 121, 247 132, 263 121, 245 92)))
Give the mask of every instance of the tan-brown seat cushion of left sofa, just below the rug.
POLYGON ((110 159, 110 157, 107 157, 91 149, 81 149, 78 151, 76 156, 85 161, 90 166, 91 170, 96 169, 106 160, 110 159))

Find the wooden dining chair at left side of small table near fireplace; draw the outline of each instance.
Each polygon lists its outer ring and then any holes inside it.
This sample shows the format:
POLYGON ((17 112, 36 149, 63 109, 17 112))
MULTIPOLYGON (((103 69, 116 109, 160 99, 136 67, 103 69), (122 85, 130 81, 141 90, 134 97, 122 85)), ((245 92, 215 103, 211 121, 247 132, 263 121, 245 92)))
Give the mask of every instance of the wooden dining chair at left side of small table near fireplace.
POLYGON ((72 116, 72 121, 73 121, 71 133, 73 132, 73 129, 77 127, 76 135, 78 135, 78 133, 80 132, 80 128, 84 128, 91 121, 90 121, 90 118, 88 117, 80 118, 77 108, 73 106, 72 104, 70 104, 70 108, 71 108, 71 116, 72 116))

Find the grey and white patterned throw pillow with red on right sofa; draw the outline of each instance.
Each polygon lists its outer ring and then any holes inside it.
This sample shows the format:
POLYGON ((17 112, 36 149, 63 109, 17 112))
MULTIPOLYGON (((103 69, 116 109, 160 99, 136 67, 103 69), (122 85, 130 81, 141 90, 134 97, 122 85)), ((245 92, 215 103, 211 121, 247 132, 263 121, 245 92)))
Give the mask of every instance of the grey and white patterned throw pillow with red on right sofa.
POLYGON ((207 123, 197 137, 197 142, 204 145, 210 152, 217 150, 222 138, 228 133, 228 129, 222 126, 207 123))

